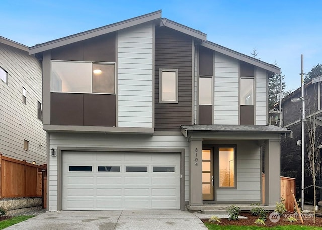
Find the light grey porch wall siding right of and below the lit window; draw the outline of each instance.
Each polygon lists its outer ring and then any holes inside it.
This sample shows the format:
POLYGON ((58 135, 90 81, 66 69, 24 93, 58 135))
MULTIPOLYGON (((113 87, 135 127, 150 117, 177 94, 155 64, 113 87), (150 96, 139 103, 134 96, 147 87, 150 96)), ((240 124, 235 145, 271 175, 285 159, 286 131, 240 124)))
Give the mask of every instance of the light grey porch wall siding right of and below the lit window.
POLYGON ((217 189, 217 201, 261 200, 261 155, 255 141, 237 143, 237 189, 217 189))

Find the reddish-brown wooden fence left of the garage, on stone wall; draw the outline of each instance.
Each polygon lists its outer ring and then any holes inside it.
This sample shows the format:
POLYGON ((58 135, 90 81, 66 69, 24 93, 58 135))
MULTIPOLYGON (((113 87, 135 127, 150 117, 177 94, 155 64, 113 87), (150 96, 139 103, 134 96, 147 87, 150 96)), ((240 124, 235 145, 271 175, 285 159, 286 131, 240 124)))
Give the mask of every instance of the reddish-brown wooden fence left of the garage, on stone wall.
POLYGON ((38 166, 0 154, 0 198, 42 197, 42 170, 38 166))

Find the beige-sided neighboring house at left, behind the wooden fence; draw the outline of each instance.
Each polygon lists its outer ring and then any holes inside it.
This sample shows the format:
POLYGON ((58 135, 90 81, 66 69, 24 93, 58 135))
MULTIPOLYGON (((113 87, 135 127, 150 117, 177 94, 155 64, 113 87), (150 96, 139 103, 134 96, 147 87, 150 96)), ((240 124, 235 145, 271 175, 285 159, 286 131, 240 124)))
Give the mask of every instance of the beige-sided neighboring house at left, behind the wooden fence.
POLYGON ((0 37, 0 152, 7 157, 47 163, 42 129, 41 62, 28 47, 0 37))

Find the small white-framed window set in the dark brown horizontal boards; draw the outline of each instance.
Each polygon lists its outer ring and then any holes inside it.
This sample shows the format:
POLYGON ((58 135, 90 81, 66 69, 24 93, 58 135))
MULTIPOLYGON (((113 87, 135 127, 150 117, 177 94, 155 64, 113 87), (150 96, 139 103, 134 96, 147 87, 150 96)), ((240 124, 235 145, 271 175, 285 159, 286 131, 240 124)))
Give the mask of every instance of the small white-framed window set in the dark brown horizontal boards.
POLYGON ((178 69, 160 69, 159 102, 178 103, 178 69))

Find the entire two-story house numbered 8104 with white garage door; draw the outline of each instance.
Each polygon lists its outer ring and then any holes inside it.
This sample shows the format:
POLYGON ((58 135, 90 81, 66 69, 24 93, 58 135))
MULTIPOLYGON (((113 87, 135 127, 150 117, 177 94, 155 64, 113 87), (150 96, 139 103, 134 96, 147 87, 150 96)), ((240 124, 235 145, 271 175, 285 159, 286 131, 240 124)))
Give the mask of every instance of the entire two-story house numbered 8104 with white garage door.
MULTIPOLYGON (((267 83, 280 69, 153 12, 30 47, 42 57, 48 209, 280 200, 267 83)), ((201 206, 201 208, 200 208, 201 206)))

